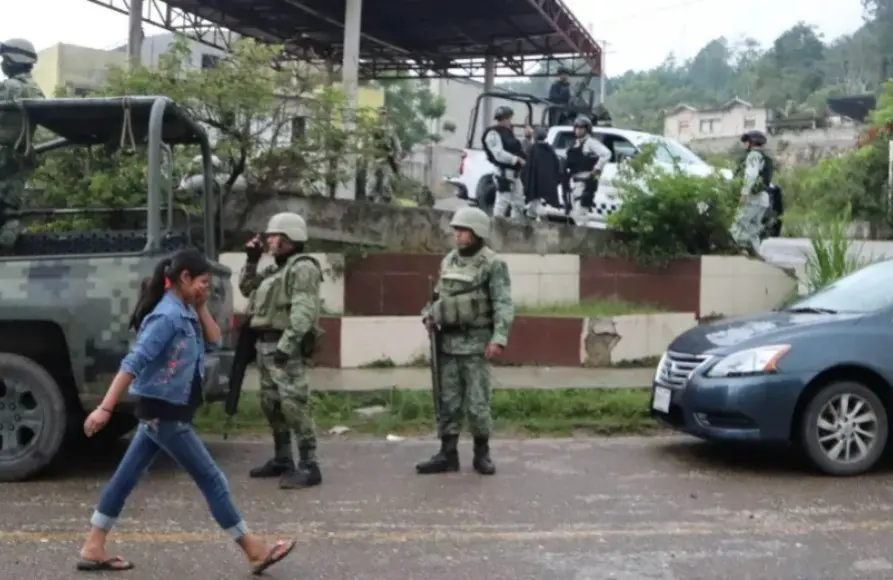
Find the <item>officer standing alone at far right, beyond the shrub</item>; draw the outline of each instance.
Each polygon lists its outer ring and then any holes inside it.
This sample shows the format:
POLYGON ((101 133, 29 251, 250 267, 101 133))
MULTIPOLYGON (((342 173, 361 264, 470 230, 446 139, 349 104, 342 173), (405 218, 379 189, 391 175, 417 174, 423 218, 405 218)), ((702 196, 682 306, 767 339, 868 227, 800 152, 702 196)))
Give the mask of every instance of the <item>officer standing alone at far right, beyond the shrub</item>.
POLYGON ((732 224, 732 238, 752 256, 759 256, 763 217, 769 210, 769 186, 772 183, 772 159, 763 151, 766 135, 748 131, 741 136, 747 155, 740 168, 744 178, 741 188, 741 207, 732 224))

